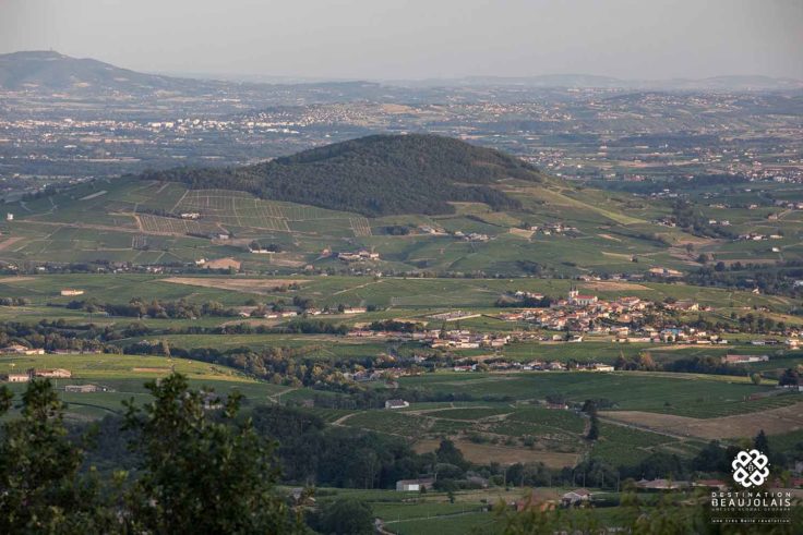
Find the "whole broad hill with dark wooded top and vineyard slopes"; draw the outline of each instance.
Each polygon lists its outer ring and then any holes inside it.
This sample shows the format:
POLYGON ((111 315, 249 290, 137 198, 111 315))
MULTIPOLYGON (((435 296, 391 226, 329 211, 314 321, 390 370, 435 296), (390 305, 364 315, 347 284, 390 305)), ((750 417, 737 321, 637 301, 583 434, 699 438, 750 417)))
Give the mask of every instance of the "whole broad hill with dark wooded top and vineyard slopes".
MULTIPOLYGON (((269 272, 579 276, 688 272, 699 269, 700 254, 732 262, 777 255, 758 242, 662 224, 673 214, 669 202, 584 187, 433 135, 370 136, 249 167, 95 180, 4 209, 11 217, 0 223, 0 267, 203 260, 269 272), (361 250, 375 255, 357 258, 361 250)), ((765 221, 743 211, 753 219, 740 232, 765 221)), ((736 221, 736 212, 728 217, 736 221)), ((794 235, 774 245, 786 258, 799 254, 794 235)))

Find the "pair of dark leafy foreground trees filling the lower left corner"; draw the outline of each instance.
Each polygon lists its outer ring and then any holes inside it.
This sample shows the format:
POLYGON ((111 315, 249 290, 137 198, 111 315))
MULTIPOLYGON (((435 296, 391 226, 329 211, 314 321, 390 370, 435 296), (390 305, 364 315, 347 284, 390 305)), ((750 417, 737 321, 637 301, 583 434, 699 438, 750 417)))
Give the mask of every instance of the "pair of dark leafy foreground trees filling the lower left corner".
MULTIPOLYGON (((87 442, 68 436, 50 382, 29 382, 0 431, 0 532, 302 533, 275 488, 275 446, 238 417, 238 396, 212 414, 179 375, 147 388, 153 403, 122 422, 134 470, 109 474, 82 470, 87 442)), ((0 415, 12 399, 0 389, 0 415)))

